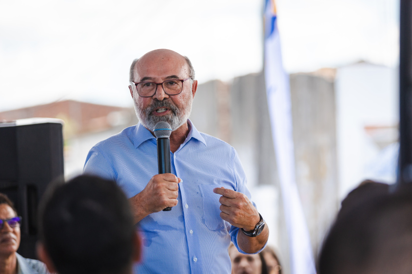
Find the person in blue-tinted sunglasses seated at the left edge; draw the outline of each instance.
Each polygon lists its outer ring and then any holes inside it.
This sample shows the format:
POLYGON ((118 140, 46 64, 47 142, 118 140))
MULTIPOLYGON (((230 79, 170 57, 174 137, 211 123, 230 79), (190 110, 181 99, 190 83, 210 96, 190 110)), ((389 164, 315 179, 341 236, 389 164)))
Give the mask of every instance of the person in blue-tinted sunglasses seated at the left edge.
POLYGON ((20 221, 13 202, 0 193, 0 273, 44 274, 46 266, 38 261, 23 258, 17 253, 20 246, 20 221))

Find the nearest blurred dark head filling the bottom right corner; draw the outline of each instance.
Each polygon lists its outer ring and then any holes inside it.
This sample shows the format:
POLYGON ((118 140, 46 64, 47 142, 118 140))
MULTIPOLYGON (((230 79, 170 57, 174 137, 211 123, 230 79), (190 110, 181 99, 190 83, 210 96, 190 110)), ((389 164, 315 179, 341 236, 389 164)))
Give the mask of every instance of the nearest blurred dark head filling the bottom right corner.
POLYGON ((412 186, 357 201, 334 222, 318 274, 411 274, 412 186))

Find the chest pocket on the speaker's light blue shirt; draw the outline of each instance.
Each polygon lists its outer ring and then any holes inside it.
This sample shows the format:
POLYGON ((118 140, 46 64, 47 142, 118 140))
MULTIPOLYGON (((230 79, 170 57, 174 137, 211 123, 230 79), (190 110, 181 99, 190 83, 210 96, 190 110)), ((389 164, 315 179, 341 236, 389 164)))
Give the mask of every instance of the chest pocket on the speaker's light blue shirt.
POLYGON ((229 231, 230 223, 224 221, 220 217, 220 202, 221 195, 213 192, 215 185, 199 185, 202 195, 203 223, 213 231, 229 231))

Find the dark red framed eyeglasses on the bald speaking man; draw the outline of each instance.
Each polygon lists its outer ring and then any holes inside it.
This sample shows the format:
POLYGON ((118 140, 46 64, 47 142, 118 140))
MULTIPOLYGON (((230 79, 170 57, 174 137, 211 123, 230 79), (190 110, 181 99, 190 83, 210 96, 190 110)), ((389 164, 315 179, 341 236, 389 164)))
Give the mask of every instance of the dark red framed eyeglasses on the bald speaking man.
POLYGON ((164 93, 167 95, 177 95, 183 90, 183 82, 192 79, 192 77, 180 80, 166 80, 162 83, 155 83, 155 82, 139 82, 133 84, 136 85, 137 93, 140 97, 152 97, 155 95, 157 90, 157 85, 161 85, 163 87, 164 93))

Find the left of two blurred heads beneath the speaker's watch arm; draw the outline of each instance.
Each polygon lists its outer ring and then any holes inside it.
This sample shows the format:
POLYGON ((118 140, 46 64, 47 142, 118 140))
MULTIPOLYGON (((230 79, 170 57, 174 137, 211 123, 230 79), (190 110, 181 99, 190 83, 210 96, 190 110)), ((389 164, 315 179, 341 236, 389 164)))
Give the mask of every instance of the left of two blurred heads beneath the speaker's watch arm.
POLYGON ((266 262, 261 253, 240 253, 233 243, 229 246, 232 274, 268 274, 266 262))

